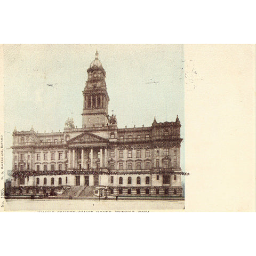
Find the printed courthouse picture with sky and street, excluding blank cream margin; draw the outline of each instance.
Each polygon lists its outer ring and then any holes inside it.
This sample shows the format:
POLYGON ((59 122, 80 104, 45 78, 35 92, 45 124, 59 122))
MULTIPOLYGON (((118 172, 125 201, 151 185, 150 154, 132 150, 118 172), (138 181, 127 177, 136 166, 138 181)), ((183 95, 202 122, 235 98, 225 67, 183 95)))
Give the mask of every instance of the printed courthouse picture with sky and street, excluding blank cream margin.
POLYGON ((4 45, 5 209, 185 209, 183 45, 4 45))

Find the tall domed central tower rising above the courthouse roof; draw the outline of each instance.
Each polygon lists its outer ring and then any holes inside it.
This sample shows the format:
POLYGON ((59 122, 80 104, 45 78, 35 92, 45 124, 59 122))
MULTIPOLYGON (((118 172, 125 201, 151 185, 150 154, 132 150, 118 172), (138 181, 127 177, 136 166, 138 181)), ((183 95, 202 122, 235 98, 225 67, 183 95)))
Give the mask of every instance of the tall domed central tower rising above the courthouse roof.
POLYGON ((88 79, 83 91, 83 128, 106 126, 108 118, 108 92, 106 85, 106 72, 99 60, 96 51, 95 60, 87 69, 88 79))

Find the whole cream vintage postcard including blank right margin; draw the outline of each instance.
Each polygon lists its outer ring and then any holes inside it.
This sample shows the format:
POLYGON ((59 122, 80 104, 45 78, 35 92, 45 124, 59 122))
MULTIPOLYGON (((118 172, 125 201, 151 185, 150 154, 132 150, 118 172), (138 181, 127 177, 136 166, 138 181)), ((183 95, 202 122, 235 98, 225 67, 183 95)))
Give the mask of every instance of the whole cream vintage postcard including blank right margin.
POLYGON ((1 53, 1 210, 255 211, 254 45, 1 53))

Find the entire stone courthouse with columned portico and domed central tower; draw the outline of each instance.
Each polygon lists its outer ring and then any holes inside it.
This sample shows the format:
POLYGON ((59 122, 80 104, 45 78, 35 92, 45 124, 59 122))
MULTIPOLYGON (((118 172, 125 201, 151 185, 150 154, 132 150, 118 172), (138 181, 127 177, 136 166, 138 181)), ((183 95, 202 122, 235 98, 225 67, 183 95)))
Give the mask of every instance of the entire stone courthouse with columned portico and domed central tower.
POLYGON ((13 131, 11 195, 182 196, 180 121, 117 127, 96 52, 83 91, 83 125, 63 132, 13 131))

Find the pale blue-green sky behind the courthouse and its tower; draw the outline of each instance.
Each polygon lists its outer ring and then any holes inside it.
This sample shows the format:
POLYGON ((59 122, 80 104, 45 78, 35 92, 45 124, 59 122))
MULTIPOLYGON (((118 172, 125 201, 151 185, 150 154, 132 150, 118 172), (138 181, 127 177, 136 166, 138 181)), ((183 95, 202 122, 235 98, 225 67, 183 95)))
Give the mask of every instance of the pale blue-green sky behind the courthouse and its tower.
MULTIPOLYGON (((179 115, 184 138, 183 45, 5 45, 5 170, 12 169, 15 126, 63 131, 73 117, 82 127, 82 91, 96 49, 107 73, 109 114, 114 110, 118 127, 150 126, 154 116, 165 122, 165 114, 171 122, 179 115)), ((184 171, 184 142, 181 149, 184 171)))

